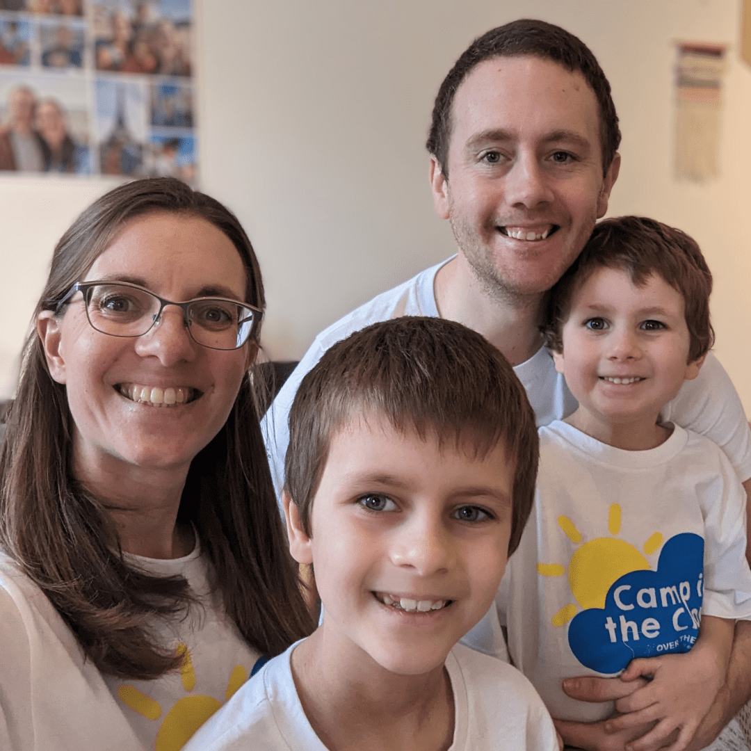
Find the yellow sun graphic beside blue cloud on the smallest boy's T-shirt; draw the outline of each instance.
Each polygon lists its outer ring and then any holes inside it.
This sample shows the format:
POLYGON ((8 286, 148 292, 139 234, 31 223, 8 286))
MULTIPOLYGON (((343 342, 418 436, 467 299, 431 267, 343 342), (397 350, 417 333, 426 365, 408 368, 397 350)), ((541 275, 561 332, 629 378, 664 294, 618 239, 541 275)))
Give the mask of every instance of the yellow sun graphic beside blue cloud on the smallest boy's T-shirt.
MULTIPOLYGON (((581 608, 605 608, 605 598, 614 582, 624 574, 640 569, 649 569, 647 559, 632 544, 614 537, 599 537, 581 544, 581 532, 569 517, 559 516, 558 526, 579 547, 569 561, 569 587, 581 608)), ((620 505, 614 503, 608 512, 608 532, 620 532, 620 505)), ((662 532, 655 532, 644 543, 644 554, 649 556, 662 545, 662 532)), ((542 576, 562 576, 566 573, 559 563, 538 563, 537 571, 542 576)), ((565 626, 578 608, 569 603, 552 619, 553 626, 565 626)))

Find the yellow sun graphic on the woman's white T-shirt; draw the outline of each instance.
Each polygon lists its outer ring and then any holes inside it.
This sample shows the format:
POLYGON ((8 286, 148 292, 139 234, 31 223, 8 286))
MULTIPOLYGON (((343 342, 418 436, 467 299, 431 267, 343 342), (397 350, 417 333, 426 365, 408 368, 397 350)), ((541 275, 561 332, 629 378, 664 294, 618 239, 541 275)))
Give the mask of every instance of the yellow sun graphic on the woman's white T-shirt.
MULTIPOLYGON (((176 652, 182 655, 182 665, 180 665, 182 687, 185 692, 191 692, 195 689, 195 671, 190 652, 185 644, 178 644, 176 652)), ((227 684, 227 701, 245 683, 247 677, 243 665, 235 665, 227 684)), ((161 706, 158 701, 154 701, 134 686, 120 686, 117 693, 128 707, 146 719, 157 720, 161 717, 161 706)), ((221 706, 222 703, 212 696, 197 694, 178 699, 172 709, 167 712, 164 722, 161 723, 154 744, 155 751, 179 751, 185 743, 188 743, 195 731, 221 706)))

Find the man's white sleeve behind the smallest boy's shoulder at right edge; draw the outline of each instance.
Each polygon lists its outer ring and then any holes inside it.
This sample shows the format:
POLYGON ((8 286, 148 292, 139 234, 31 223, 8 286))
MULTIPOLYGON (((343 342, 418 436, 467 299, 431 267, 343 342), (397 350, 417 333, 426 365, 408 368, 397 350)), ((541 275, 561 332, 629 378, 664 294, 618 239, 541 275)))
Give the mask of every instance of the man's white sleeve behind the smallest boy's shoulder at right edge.
POLYGON ((751 430, 740 397, 713 352, 698 376, 684 382, 665 405, 662 419, 706 436, 722 448, 741 482, 751 478, 751 430))

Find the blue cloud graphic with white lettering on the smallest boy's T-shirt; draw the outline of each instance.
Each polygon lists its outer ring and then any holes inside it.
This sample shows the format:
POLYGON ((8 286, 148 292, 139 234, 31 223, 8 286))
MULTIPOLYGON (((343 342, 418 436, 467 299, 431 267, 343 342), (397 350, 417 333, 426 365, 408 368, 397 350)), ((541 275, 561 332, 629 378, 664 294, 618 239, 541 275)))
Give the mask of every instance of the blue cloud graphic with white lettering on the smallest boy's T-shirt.
POLYGON ((605 608, 578 613, 569 646, 587 668, 614 674, 635 657, 688 652, 704 596, 704 540, 684 532, 662 546, 656 571, 624 574, 605 608))

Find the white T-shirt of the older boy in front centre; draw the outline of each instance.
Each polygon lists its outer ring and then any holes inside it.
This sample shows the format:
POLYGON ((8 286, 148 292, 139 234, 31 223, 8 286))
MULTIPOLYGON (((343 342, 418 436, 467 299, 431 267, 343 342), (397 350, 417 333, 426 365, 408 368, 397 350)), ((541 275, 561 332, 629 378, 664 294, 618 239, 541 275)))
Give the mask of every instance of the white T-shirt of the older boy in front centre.
MULTIPOLYGON (((294 686, 290 657, 296 646, 264 665, 185 751, 326 751, 294 686)), ((454 692, 450 751, 558 748, 550 715, 529 681, 511 665, 457 644, 446 658, 446 670, 454 692)))

